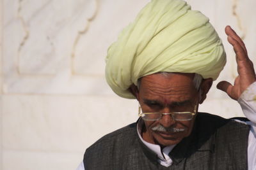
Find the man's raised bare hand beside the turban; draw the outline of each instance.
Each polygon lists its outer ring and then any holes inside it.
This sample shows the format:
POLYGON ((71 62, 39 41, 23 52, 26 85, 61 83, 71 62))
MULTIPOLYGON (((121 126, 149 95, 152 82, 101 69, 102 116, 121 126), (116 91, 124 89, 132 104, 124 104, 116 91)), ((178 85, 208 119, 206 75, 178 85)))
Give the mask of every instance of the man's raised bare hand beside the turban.
POLYGON ((226 92, 232 99, 237 100, 244 90, 256 81, 255 71, 242 39, 237 36, 230 26, 225 28, 225 32, 228 36, 228 42, 233 46, 236 53, 237 72, 239 75, 236 77, 234 85, 227 81, 220 81, 217 88, 226 92))

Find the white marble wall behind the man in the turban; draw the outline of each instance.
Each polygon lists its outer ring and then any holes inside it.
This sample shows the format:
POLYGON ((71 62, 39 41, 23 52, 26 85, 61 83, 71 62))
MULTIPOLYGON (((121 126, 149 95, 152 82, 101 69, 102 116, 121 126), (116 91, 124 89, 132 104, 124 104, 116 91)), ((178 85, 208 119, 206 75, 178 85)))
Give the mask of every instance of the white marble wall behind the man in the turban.
MULTIPOLYGON (((0 169, 76 169, 93 142, 136 121, 136 101, 106 84, 104 57, 147 2, 0 0, 0 169)), ((255 62, 256 1, 188 2, 223 38, 227 66, 216 83, 233 82, 236 60, 224 28, 234 27, 255 62)), ((199 110, 243 116, 215 85, 199 110)))

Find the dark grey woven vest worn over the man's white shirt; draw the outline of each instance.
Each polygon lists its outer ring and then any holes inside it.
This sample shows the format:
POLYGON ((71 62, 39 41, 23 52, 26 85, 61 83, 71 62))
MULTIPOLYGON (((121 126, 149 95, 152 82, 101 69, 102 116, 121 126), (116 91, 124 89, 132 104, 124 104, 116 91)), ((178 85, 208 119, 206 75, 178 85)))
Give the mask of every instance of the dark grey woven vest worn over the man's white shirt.
POLYGON ((156 153, 138 138, 136 123, 112 132, 84 153, 86 170, 248 169, 250 127, 232 119, 198 113, 191 135, 170 152, 173 164, 161 166, 156 153))

